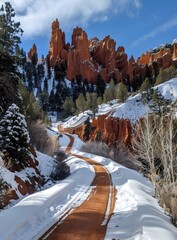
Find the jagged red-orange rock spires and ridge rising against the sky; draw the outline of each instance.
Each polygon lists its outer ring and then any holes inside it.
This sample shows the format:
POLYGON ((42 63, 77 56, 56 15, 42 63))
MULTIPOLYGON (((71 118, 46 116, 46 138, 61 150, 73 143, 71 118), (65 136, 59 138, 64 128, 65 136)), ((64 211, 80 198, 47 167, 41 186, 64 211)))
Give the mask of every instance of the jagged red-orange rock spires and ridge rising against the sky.
POLYGON ((58 20, 52 23, 50 64, 54 67, 56 61, 65 61, 68 80, 82 75, 83 81, 87 79, 89 83, 95 83, 100 74, 105 82, 113 78, 116 82, 132 83, 137 81, 138 76, 144 79, 147 71, 153 76, 156 71, 154 63, 158 70, 171 65, 177 66, 177 43, 154 52, 146 52, 137 61, 133 56, 128 59, 123 46, 117 49, 115 47, 116 43, 110 36, 102 40, 96 37, 88 39, 87 33, 79 27, 73 30, 71 45, 66 44, 65 34, 58 20))

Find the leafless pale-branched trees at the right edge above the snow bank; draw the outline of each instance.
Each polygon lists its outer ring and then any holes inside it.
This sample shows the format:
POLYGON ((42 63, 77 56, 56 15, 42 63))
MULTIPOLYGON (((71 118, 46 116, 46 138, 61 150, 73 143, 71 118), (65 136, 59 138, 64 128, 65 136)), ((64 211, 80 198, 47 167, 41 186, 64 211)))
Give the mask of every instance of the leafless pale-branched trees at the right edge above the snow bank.
POLYGON ((157 176, 160 174, 163 184, 174 185, 176 181, 177 144, 174 142, 173 113, 161 117, 147 116, 140 123, 138 138, 132 140, 133 157, 140 161, 142 171, 157 190, 157 176))

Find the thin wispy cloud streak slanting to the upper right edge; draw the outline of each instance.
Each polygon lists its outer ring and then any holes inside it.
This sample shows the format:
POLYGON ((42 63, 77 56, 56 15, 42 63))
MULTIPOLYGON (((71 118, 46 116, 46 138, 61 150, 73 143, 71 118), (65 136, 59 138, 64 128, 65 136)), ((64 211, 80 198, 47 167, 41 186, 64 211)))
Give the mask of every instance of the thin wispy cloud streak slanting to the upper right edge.
POLYGON ((157 28, 155 28, 151 32, 149 32, 149 33, 143 35, 142 37, 138 38, 136 41, 133 42, 132 46, 136 47, 136 46, 139 45, 140 42, 146 41, 149 38, 153 38, 156 35, 158 35, 159 33, 166 32, 170 28, 175 27, 175 26, 177 26, 177 16, 173 16, 170 20, 164 22, 163 24, 161 24, 160 26, 158 26, 157 28))

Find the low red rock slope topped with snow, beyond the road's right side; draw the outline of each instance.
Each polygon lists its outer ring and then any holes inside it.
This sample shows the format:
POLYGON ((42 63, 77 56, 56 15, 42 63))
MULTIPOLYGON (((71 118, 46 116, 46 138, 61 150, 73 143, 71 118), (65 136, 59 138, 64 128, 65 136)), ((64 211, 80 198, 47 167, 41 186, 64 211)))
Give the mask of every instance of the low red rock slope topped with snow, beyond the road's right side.
MULTIPOLYGON (((177 100, 177 78, 154 88, 157 88, 160 94, 172 103, 177 100)), ((91 115, 90 111, 74 116, 62 125, 64 129, 59 126, 59 131, 77 134, 84 141, 102 141, 111 146, 123 143, 131 147, 132 133, 135 129, 136 134, 138 133, 139 122, 151 111, 148 103, 143 102, 141 93, 138 93, 129 97, 125 103, 113 101, 111 105, 100 105, 98 116, 90 123, 87 120, 91 115)))

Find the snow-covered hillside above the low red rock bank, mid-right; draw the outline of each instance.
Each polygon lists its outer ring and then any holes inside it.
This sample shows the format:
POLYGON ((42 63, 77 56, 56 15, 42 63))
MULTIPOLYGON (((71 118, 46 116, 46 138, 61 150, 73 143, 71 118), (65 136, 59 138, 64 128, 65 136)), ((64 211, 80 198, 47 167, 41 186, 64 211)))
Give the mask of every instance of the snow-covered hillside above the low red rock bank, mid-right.
MULTIPOLYGON (((177 100, 177 78, 162 83, 154 87, 154 89, 158 89, 165 99, 170 99, 172 102, 177 100)), ((133 97, 130 96, 125 103, 118 103, 117 100, 113 100, 110 103, 100 105, 97 115, 110 114, 113 117, 129 119, 132 123, 135 123, 150 111, 149 106, 143 103, 141 93, 138 93, 133 97)), ((70 118, 63 124, 63 127, 77 127, 83 124, 91 115, 91 111, 85 111, 70 118)))

